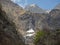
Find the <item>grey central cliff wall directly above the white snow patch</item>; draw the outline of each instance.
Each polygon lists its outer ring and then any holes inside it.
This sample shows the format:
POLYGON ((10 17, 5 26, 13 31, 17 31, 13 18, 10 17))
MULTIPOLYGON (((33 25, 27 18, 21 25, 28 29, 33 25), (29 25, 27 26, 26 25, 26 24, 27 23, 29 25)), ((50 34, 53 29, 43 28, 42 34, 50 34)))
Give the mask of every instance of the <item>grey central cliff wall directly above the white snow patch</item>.
POLYGON ((33 28, 35 31, 37 31, 37 29, 43 29, 47 18, 48 14, 30 12, 24 13, 18 17, 20 29, 25 31, 29 30, 30 28, 33 28))

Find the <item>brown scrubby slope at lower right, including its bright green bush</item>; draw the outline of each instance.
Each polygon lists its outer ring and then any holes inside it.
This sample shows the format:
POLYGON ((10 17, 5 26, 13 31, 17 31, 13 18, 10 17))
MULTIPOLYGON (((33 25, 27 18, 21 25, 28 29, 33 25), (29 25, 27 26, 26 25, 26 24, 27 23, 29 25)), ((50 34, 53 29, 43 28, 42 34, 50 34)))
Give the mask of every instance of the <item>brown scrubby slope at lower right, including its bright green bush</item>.
POLYGON ((60 29, 43 30, 36 33, 35 45, 60 45, 60 29))

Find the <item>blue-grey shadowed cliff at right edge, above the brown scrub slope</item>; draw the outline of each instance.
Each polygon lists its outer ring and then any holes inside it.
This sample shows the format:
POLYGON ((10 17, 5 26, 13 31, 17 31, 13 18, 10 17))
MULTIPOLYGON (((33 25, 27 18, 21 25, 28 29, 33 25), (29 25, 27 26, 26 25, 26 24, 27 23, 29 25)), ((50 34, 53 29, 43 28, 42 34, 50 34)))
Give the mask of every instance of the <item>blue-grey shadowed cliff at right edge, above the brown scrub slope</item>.
POLYGON ((52 29, 60 29, 60 9, 53 9, 49 15, 48 26, 52 29))

